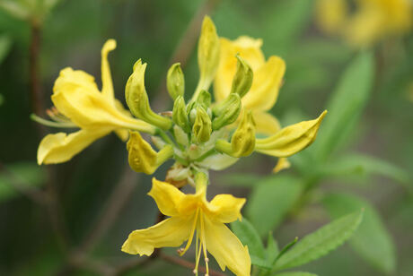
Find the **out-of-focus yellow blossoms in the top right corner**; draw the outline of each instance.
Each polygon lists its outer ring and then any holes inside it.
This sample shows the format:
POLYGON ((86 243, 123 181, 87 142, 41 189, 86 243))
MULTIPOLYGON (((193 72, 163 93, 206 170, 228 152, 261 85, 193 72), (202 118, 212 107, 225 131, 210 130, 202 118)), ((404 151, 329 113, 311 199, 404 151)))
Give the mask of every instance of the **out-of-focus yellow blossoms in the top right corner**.
POLYGON ((368 47, 385 37, 407 33, 413 22, 409 0, 318 0, 317 21, 322 30, 337 33, 355 47, 368 47), (354 10, 354 12, 350 12, 354 10))

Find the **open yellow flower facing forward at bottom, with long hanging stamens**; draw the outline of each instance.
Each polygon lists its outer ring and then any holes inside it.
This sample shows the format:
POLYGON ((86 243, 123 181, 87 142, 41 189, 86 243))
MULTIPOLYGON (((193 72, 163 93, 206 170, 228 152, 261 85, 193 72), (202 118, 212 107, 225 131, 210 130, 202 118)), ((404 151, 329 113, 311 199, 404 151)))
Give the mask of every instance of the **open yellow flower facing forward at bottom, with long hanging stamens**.
MULTIPOLYGON (((197 184, 198 185, 198 184, 197 184)), ((127 237, 122 251, 128 254, 151 255, 154 248, 181 246, 188 240, 180 255, 185 254, 193 238, 197 239, 196 269, 201 253, 208 259, 206 250, 212 254, 221 269, 228 268, 236 275, 250 275, 250 254, 242 246, 225 223, 241 220, 241 208, 245 199, 231 194, 218 194, 208 203, 206 185, 198 185, 196 194, 183 194, 175 186, 153 179, 149 192, 160 211, 169 219, 148 228, 135 230, 127 237)))

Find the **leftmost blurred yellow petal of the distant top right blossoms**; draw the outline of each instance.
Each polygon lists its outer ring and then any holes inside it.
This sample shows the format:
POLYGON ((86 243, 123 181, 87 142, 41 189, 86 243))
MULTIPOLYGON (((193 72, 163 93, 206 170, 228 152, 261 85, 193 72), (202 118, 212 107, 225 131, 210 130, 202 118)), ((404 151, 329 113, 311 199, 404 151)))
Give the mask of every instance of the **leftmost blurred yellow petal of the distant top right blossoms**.
POLYGON ((317 22, 327 33, 338 32, 347 20, 346 0, 318 0, 315 8, 317 22))

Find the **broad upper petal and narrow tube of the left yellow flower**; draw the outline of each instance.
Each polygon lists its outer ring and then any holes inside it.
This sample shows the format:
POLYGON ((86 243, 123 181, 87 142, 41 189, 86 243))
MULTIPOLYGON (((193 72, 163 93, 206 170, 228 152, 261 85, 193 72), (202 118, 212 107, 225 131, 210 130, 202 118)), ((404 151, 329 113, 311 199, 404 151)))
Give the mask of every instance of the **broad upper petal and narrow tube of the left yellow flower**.
MULTIPOLYGON (((56 108, 82 128, 108 127, 131 128, 154 133, 154 126, 141 120, 125 116, 115 108, 110 100, 93 89, 90 82, 79 76, 81 71, 66 68, 60 72, 55 83, 52 101, 56 108)), ((89 79, 91 81, 91 79, 89 79)))

